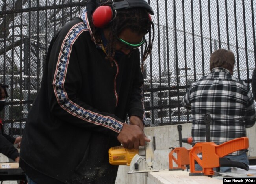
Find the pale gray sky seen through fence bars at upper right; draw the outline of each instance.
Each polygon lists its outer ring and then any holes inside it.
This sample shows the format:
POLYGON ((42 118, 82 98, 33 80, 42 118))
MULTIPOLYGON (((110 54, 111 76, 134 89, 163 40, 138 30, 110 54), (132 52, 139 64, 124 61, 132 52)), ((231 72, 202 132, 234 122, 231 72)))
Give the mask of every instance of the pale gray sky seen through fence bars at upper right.
MULTIPOLYGON (((218 41, 218 26, 217 26, 217 1, 210 1, 210 11, 211 11, 211 38, 218 41)), ((168 22, 168 32, 169 32, 169 43, 167 43, 167 47, 169 47, 169 61, 170 68, 174 74, 174 47, 173 47, 173 1, 167 0, 167 17, 165 16, 165 1, 159 0, 159 9, 157 11, 157 1, 150 0, 150 4, 154 9, 154 23, 158 24, 159 14, 159 24, 166 26, 166 18, 168 22)), ((178 48, 178 67, 184 68, 184 38, 183 38, 183 17, 182 17, 182 0, 176 0, 176 25, 177 29, 181 31, 177 31, 177 48, 178 48)), ((210 32, 209 32, 209 18, 208 18, 208 0, 202 0, 202 36, 203 45, 204 45, 204 70, 205 72, 209 71, 209 59, 210 59, 210 32)), ((193 75, 193 44, 192 44, 192 15, 191 15, 191 1, 184 0, 184 11, 185 11, 185 27, 186 27, 186 56, 187 56, 187 66, 192 68, 188 70, 188 74, 193 75)), ((254 1, 254 18, 255 18, 255 9, 256 2, 254 1)), ((236 31, 235 31, 235 15, 234 15, 234 1, 227 0, 227 9, 228 9, 228 33, 229 33, 229 44, 230 50, 232 50, 236 56, 236 31), (234 45, 234 46, 232 46, 234 45)), ((243 22, 243 7, 242 0, 236 0, 236 15, 237 15, 237 37, 238 37, 238 46, 239 49, 239 64, 240 70, 246 68, 246 58, 245 58, 245 47, 248 49, 248 64, 249 68, 254 68, 254 50, 253 46, 253 34, 252 34, 252 12, 251 12, 251 2, 249 0, 245 1, 245 21, 246 21, 246 39, 247 46, 245 46, 245 31, 244 31, 244 22, 243 22)), ((199 0, 193 0, 193 16, 194 16, 194 34, 195 36, 195 57, 196 57, 196 74, 202 74, 202 47, 201 47, 201 30, 200 30, 200 9, 199 9, 199 0)), ((220 22, 220 39, 221 39, 221 48, 227 47, 227 29, 226 29, 226 11, 225 11, 225 1, 219 0, 219 22, 220 22)), ((154 50, 153 50, 153 62, 157 63, 161 61, 161 71, 163 71, 163 27, 157 29, 155 26, 155 41, 154 41, 154 50), (158 57, 158 31, 160 33, 160 58, 158 57)), ((212 42, 213 50, 214 44, 212 42)), ((166 48, 167 48, 166 47, 166 48)), ((217 42, 217 48, 219 47, 219 43, 217 42)), ((149 59, 147 59, 147 63, 149 64, 149 59)), ((153 64, 153 74, 159 74, 159 64, 153 64)), ((148 71, 149 72, 149 71, 148 71)), ((250 71, 251 74, 252 71, 250 71)), ((181 75, 185 74, 184 71, 181 71, 181 75)), ((234 72, 236 76, 236 72, 234 72)), ((246 72, 241 72, 241 79, 247 79, 246 72)))

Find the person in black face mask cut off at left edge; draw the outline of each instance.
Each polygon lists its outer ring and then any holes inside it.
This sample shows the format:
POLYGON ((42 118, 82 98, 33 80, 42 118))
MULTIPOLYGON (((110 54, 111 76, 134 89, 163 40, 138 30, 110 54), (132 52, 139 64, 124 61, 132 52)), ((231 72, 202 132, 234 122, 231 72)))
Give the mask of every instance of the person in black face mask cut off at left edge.
MULTIPOLYGON (((0 111, 4 109, 6 98, 8 93, 6 91, 7 85, 0 84, 0 111)), ((18 150, 13 146, 13 144, 18 143, 18 148, 20 147, 21 137, 14 138, 4 133, 2 120, 0 119, 0 153, 11 158, 15 162, 19 162, 20 156, 18 150)))

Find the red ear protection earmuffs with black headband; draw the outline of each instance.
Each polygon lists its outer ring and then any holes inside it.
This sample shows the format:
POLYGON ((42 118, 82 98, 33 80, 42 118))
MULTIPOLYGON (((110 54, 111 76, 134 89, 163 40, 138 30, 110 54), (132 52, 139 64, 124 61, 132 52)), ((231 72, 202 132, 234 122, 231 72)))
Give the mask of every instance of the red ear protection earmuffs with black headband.
POLYGON ((99 6, 95 9, 92 15, 93 25, 96 28, 103 28, 116 16, 117 9, 142 7, 147 9, 151 20, 151 15, 154 15, 152 7, 145 0, 123 0, 119 2, 113 2, 111 5, 99 6))

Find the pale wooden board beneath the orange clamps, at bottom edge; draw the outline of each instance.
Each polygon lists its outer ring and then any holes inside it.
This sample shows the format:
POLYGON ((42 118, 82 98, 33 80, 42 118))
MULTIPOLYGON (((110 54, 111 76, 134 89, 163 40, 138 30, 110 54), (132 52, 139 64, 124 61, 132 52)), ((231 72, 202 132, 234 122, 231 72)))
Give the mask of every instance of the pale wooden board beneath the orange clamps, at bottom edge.
POLYGON ((148 173, 148 178, 156 184, 222 184, 222 180, 208 176, 189 176, 187 171, 168 171, 148 173))

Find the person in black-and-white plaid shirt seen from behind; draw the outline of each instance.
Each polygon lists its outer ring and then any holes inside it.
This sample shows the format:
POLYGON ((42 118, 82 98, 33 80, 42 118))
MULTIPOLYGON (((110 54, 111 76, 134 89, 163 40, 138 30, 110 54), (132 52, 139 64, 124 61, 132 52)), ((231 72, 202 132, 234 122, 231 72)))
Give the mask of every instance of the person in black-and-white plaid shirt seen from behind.
MULTIPOLYGON (((255 124, 252 92, 244 81, 233 76, 234 65, 232 51, 216 50, 210 57, 210 74, 192 83, 183 97, 182 105, 191 109, 193 144, 206 142, 204 114, 211 116, 211 142, 215 144, 245 137, 245 128, 255 124)), ((249 165, 245 151, 226 157, 249 165)), ((228 172, 230 167, 221 167, 221 171, 228 172)))

